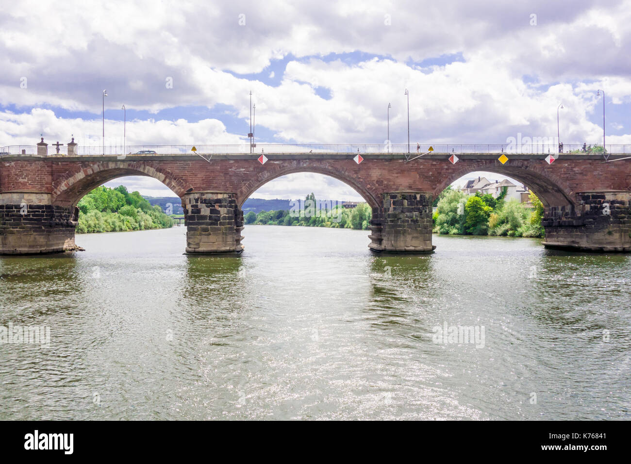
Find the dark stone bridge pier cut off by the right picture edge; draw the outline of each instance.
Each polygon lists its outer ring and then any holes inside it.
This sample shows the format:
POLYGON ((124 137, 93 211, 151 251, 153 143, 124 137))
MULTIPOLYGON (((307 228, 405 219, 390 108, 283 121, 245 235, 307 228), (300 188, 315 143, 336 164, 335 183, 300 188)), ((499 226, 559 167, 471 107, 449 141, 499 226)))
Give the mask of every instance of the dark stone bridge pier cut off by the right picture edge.
POLYGON ((573 251, 631 251, 631 192, 579 193, 575 206, 545 209, 548 248, 573 251))

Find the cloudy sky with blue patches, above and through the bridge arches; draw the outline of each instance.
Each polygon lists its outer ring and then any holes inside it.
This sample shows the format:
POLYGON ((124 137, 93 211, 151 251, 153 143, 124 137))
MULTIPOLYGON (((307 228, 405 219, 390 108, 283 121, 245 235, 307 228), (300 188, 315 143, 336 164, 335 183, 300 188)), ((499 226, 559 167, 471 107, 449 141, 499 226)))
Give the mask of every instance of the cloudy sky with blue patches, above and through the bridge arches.
MULTIPOLYGON (((3 1, 0 146, 630 143, 631 1, 3 1), (102 103, 103 104, 103 103, 102 103)), ((466 177, 477 177, 472 173, 466 177)), ((484 174, 483 174, 484 175, 484 174)), ((493 174, 487 174, 493 177, 493 174)), ((497 178, 498 176, 495 175, 497 178)), ((143 194, 170 191, 126 177, 143 194)), ((317 174, 256 198, 360 199, 317 174), (308 190, 307 191, 305 191, 308 190), (322 196, 321 196, 322 195, 322 196)))

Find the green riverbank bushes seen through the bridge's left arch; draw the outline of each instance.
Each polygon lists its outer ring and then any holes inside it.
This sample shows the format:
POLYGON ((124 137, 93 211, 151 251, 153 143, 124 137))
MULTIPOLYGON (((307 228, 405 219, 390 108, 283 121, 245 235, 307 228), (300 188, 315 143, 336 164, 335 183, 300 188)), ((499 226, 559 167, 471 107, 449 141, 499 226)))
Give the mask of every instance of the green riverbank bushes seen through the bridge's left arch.
POLYGON ((151 206, 138 192, 129 193, 124 186, 97 187, 81 198, 78 208, 77 234, 166 229, 175 223, 160 206, 151 206))

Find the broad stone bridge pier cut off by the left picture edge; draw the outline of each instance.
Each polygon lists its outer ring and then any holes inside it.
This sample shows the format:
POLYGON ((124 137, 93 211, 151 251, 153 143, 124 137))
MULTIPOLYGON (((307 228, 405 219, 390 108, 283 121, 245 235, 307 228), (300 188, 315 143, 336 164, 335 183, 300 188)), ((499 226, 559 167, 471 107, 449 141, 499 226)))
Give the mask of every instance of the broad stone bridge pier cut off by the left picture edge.
POLYGON ((47 193, 0 193, 0 254, 75 249, 78 209, 53 206, 47 193))

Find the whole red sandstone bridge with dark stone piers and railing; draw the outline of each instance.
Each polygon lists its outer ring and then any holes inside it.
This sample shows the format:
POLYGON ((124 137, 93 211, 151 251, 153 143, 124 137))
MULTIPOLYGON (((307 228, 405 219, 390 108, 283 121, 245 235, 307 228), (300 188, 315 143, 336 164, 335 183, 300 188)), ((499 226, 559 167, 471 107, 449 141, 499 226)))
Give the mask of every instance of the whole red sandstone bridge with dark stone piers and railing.
POLYGON ((245 199, 295 172, 330 175, 369 203, 373 251, 427 253, 435 248, 432 200, 473 171, 517 179, 541 199, 546 247, 631 251, 631 145, 607 145, 605 155, 594 152, 602 146, 566 145, 558 153, 557 145, 534 143, 433 145, 432 152, 424 144, 419 153, 407 144, 258 144, 256 153, 249 145, 198 145, 196 153, 191 146, 105 148, 42 141, 0 150, 0 254, 73 249, 80 199, 126 175, 158 179, 182 199, 187 253, 239 252, 245 199))

